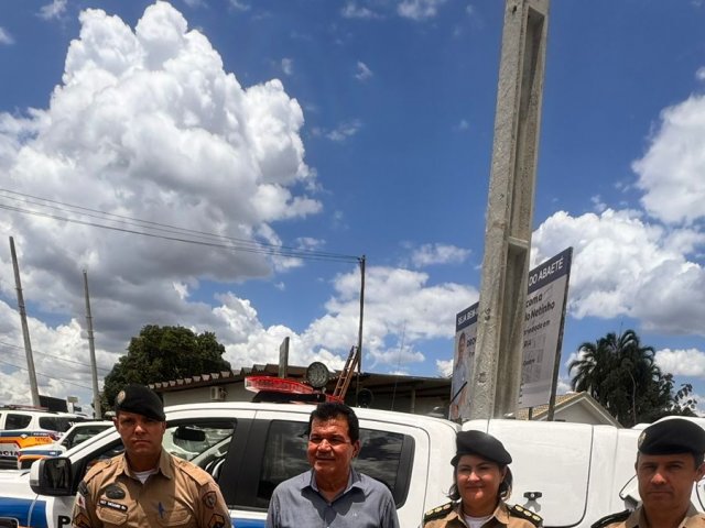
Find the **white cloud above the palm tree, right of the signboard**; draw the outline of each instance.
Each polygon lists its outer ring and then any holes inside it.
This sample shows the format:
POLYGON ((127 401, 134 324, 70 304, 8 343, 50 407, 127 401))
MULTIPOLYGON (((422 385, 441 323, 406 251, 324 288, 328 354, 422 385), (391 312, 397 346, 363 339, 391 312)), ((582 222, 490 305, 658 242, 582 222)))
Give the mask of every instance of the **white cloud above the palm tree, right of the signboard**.
POLYGON ((705 271, 688 257, 704 243, 634 211, 558 211, 534 232, 532 263, 574 248, 568 307, 577 318, 629 316, 646 329, 704 336, 705 271))

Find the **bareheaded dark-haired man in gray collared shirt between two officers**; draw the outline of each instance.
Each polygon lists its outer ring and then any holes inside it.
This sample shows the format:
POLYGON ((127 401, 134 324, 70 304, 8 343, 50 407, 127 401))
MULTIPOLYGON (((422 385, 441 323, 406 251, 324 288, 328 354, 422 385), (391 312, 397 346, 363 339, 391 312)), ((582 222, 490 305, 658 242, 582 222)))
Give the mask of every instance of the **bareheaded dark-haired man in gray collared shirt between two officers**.
POLYGON ((308 431, 312 469, 276 486, 267 528, 399 528, 389 488, 351 465, 360 452, 352 409, 321 404, 311 413, 308 431))

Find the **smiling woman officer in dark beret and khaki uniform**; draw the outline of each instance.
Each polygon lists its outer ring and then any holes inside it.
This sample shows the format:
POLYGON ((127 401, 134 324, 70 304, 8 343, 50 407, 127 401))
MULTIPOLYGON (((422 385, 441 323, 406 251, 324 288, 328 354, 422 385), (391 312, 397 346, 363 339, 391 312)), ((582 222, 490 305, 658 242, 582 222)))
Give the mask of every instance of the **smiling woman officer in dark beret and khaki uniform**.
POLYGON ((534 528, 543 519, 505 503, 511 494, 511 455, 491 435, 462 431, 456 437, 452 502, 424 515, 423 528, 534 528))

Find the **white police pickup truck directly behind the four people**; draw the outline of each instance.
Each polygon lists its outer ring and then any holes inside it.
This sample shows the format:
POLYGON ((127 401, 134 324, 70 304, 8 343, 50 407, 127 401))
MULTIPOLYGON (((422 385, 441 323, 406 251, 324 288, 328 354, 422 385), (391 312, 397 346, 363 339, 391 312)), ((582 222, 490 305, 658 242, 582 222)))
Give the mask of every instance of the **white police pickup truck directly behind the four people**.
MULTIPOLYGON (((208 403, 166 408, 164 449, 208 471, 220 485, 237 528, 263 527, 274 487, 308 469, 306 427, 313 407, 208 403)), ((447 502, 449 464, 460 426, 438 418, 356 409, 359 471, 392 492, 402 527, 447 502)), ((639 430, 584 424, 471 420, 513 457, 511 502, 536 512, 546 527, 589 527, 634 506, 633 462, 639 430)), ((30 471, 0 472, 0 517, 22 526, 65 528, 78 483, 97 460, 122 450, 115 430, 45 459, 30 471)))

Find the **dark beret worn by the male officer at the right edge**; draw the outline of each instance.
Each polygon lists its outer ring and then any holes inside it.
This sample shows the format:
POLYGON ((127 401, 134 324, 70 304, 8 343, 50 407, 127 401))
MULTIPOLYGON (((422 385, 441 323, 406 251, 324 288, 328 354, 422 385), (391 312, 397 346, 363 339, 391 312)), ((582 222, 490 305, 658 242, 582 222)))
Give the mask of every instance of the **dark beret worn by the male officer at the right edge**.
POLYGON ((639 435, 639 452, 643 454, 705 453, 705 429, 684 418, 662 420, 639 435))

